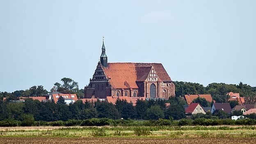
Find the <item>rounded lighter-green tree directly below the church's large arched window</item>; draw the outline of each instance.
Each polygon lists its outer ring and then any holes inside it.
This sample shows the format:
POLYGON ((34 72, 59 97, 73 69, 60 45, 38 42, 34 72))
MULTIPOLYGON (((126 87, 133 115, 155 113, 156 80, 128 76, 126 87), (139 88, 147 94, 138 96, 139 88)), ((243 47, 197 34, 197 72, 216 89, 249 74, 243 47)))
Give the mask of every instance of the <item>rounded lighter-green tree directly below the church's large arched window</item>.
POLYGON ((160 108, 160 106, 151 106, 146 110, 147 119, 157 120, 160 118, 164 118, 164 111, 160 108))

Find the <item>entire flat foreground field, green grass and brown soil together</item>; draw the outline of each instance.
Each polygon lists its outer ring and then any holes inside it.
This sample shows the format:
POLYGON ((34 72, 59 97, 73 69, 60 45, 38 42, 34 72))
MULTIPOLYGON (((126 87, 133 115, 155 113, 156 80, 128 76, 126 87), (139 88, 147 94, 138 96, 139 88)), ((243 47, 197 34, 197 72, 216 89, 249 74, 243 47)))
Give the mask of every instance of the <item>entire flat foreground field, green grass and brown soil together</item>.
POLYGON ((0 144, 255 143, 256 126, 1 127, 0 144))

